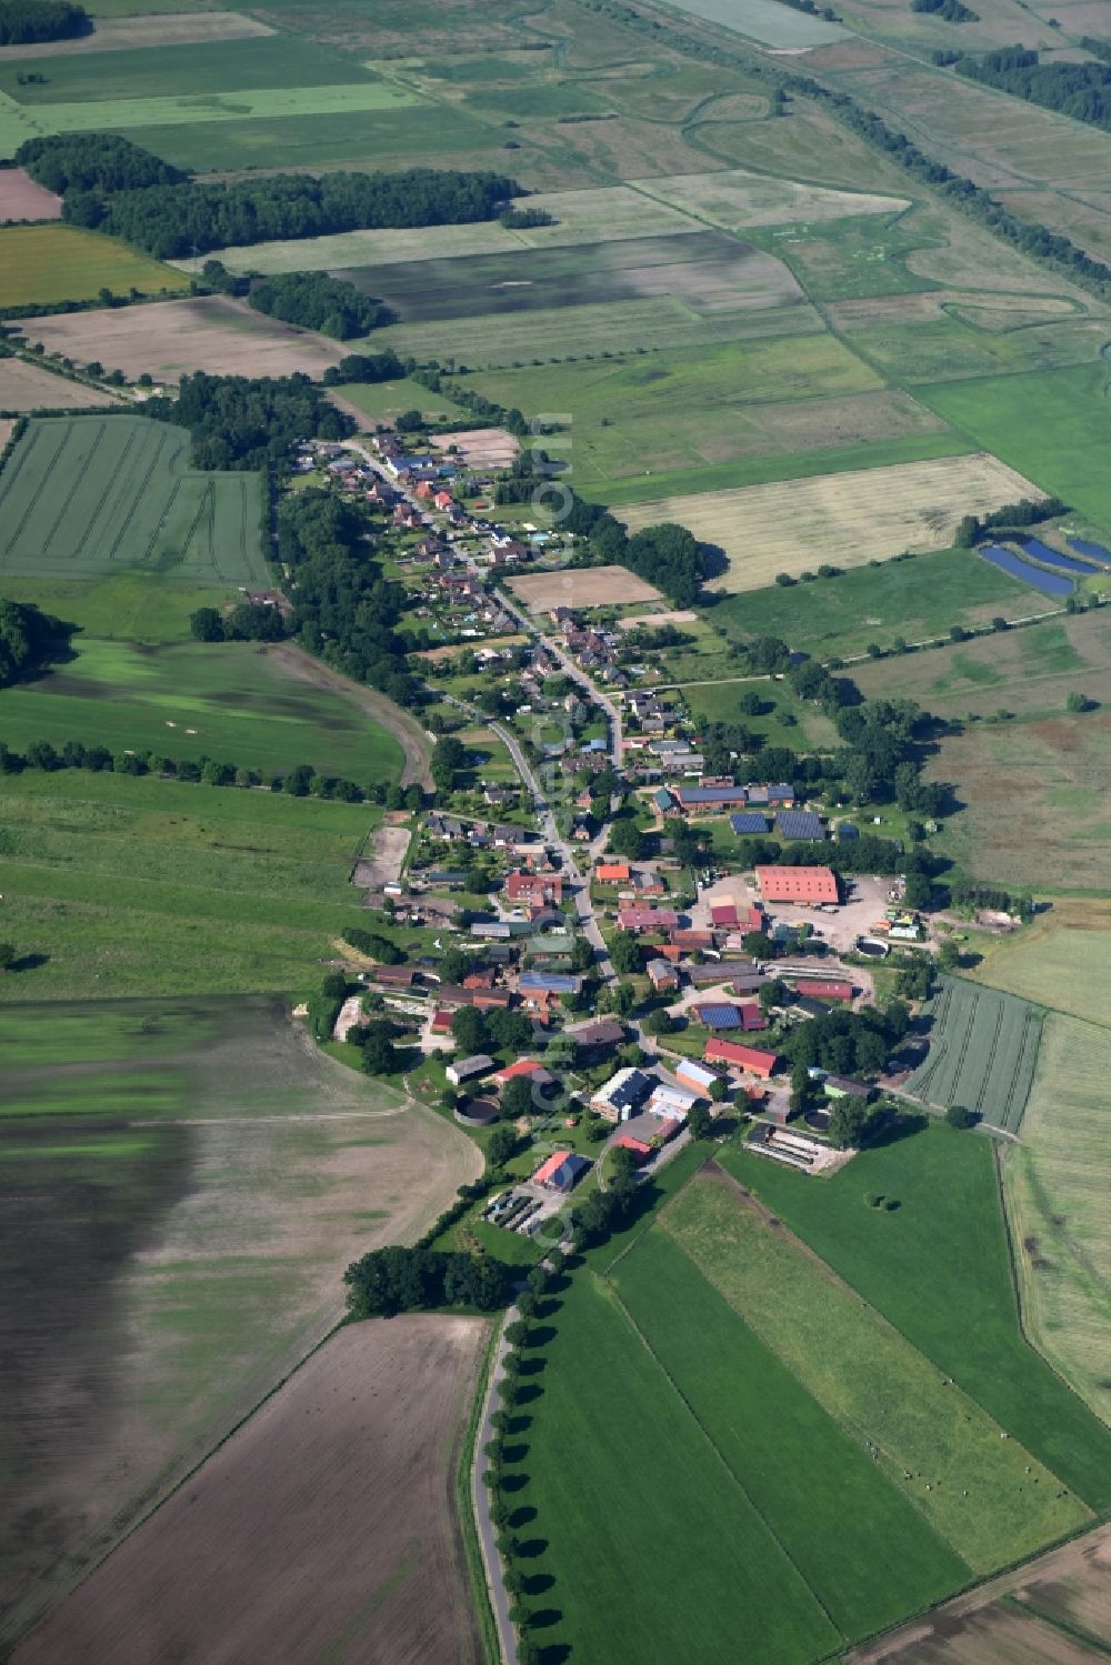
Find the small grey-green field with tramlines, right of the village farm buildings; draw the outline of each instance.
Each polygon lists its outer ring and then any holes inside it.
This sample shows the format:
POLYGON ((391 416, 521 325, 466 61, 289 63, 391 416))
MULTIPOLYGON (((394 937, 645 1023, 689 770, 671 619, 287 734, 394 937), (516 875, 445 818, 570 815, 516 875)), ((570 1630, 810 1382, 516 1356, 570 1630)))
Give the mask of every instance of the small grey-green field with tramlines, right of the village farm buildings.
POLYGON ((963 1104, 1016 1134, 1034 1076, 1041 1012, 1028 1001, 961 977, 941 977, 923 1006, 929 1052, 906 1091, 946 1109, 963 1104))

